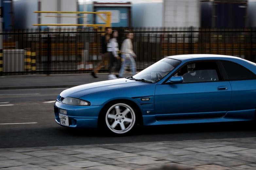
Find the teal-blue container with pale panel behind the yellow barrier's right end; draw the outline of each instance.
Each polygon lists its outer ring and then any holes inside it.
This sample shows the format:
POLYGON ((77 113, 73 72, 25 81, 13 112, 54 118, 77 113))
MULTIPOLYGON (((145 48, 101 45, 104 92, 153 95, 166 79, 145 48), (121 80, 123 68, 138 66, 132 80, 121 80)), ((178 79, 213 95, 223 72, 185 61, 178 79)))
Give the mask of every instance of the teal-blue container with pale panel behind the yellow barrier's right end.
MULTIPOLYGON (((131 2, 91 2, 87 4, 88 12, 111 12, 111 27, 130 27, 131 25, 131 2)), ((106 16, 102 15, 105 19, 106 16)), ((89 14, 87 24, 104 24, 97 15, 89 14)))

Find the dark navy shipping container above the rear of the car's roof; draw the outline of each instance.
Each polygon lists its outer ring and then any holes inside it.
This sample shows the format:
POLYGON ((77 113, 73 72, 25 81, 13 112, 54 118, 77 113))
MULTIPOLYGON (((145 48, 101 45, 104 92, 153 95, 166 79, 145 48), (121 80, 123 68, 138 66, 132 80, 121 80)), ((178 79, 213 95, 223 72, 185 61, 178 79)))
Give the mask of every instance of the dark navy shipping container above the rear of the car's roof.
POLYGON ((247 0, 201 1, 202 28, 248 27, 247 0))

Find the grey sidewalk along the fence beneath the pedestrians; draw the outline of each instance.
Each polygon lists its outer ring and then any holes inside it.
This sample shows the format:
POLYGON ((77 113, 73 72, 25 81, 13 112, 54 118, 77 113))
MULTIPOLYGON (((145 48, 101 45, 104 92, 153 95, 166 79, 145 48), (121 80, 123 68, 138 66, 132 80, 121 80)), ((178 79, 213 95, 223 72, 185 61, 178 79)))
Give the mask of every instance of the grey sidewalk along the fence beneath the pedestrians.
MULTIPOLYGON (((0 90, 71 88, 108 80, 108 74, 97 74, 97 76, 98 78, 93 78, 91 74, 5 76, 0 77, 0 90)), ((124 76, 129 77, 131 74, 125 74, 124 76)))

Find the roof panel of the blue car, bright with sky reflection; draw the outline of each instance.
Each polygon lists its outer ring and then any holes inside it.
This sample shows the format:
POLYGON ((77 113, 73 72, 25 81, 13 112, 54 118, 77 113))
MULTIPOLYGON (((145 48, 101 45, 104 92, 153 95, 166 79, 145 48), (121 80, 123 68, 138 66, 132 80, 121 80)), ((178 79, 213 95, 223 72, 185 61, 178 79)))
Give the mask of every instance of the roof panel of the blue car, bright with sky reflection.
POLYGON ((187 54, 187 55, 173 55, 168 56, 166 58, 172 58, 176 60, 187 60, 187 59, 202 59, 202 58, 216 58, 216 59, 223 59, 223 60, 229 60, 229 59, 241 59, 239 57, 233 57, 229 55, 216 55, 216 54, 187 54))

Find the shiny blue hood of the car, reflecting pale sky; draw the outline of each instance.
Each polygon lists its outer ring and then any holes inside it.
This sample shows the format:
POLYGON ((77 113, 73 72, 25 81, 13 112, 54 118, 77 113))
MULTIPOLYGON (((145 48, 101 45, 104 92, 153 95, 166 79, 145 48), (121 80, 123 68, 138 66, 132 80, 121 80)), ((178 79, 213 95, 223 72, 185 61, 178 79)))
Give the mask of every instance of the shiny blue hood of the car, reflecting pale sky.
POLYGON ((92 94, 95 92, 132 87, 132 86, 141 86, 146 84, 147 83, 140 82, 140 81, 129 80, 126 78, 118 78, 113 80, 99 81, 95 83, 89 83, 89 84, 72 87, 61 92, 60 96, 64 98, 66 97, 80 98, 82 96, 85 96, 87 94, 92 94))

